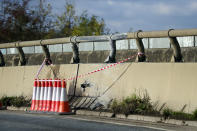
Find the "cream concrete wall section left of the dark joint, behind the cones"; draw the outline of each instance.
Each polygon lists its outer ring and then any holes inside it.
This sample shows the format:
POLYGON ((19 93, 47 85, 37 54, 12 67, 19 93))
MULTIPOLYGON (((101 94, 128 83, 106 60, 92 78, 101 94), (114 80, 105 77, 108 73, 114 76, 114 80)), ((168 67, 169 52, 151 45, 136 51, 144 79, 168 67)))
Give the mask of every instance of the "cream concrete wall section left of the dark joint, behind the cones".
MULTIPOLYGON (((0 68, 0 97, 32 96, 33 83, 40 66, 2 67, 0 68)), ((77 65, 44 66, 40 79, 68 78, 76 75, 77 65)), ((68 82, 68 87, 73 81, 68 82)))

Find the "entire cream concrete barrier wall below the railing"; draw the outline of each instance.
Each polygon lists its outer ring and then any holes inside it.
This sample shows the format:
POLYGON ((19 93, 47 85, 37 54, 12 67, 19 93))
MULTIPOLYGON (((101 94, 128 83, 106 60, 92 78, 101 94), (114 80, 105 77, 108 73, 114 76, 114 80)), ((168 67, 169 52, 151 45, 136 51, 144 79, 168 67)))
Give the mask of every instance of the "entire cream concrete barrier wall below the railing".
MULTIPOLYGON (((76 76, 78 65, 45 67, 40 78, 68 78, 76 76)), ((106 64, 80 64, 79 75, 106 66, 106 64)), ((77 81, 76 95, 98 97, 101 103, 122 99, 132 93, 143 95, 145 90, 158 108, 166 103, 170 108, 192 112, 197 108, 196 63, 124 63, 100 71, 77 81), (84 90, 81 84, 88 83, 84 90)), ((0 96, 32 96, 34 77, 39 66, 0 68, 0 96)), ((68 92, 74 92, 75 81, 68 81, 68 92)))

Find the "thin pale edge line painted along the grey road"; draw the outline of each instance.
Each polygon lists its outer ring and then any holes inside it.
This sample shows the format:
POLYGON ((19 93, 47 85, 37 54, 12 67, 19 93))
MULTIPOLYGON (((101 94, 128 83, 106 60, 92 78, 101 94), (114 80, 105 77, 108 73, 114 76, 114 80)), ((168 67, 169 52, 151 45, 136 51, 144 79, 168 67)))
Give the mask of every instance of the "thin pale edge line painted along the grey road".
POLYGON ((134 125, 134 124, 126 124, 126 123, 120 123, 120 122, 110 122, 110 121, 101 121, 101 120, 89 120, 85 118, 75 118, 75 117, 65 117, 70 118, 70 119, 75 119, 75 120, 82 120, 82 121, 89 121, 89 122, 98 122, 98 123, 107 123, 107 124, 115 124, 115 125, 123 125, 123 126, 130 126, 130 127, 142 127, 142 128, 149 128, 149 129, 155 129, 155 130, 162 130, 162 131, 174 131, 174 130, 168 130, 164 128, 157 128, 157 127, 151 127, 151 126, 139 126, 139 125, 134 125))

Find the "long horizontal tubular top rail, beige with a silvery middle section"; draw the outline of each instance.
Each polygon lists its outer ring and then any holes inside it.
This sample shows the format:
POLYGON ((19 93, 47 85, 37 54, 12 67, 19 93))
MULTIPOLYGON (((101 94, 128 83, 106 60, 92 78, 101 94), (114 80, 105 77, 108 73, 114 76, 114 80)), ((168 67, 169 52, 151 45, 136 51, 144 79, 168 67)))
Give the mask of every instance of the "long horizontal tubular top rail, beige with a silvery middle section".
POLYGON ((182 36, 197 36, 197 29, 184 29, 184 30, 165 30, 165 31, 149 31, 149 32, 133 32, 123 33, 115 35, 103 35, 103 36, 74 36, 66 38, 35 40, 35 41, 17 41, 12 43, 0 44, 0 49, 16 48, 16 47, 29 47, 40 45, 55 45, 62 43, 81 43, 81 42, 101 42, 111 40, 123 40, 123 39, 137 39, 137 38, 163 38, 163 37, 182 37, 182 36))

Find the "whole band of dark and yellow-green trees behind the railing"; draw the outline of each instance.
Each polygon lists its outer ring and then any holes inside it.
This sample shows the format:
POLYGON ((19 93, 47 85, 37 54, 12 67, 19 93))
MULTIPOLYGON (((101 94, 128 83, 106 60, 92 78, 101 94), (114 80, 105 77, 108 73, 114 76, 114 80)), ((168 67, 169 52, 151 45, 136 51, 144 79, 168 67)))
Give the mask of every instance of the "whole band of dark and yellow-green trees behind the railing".
POLYGON ((87 11, 76 13, 66 2, 60 15, 54 15, 45 0, 1 0, 0 43, 109 33, 103 19, 87 11))

